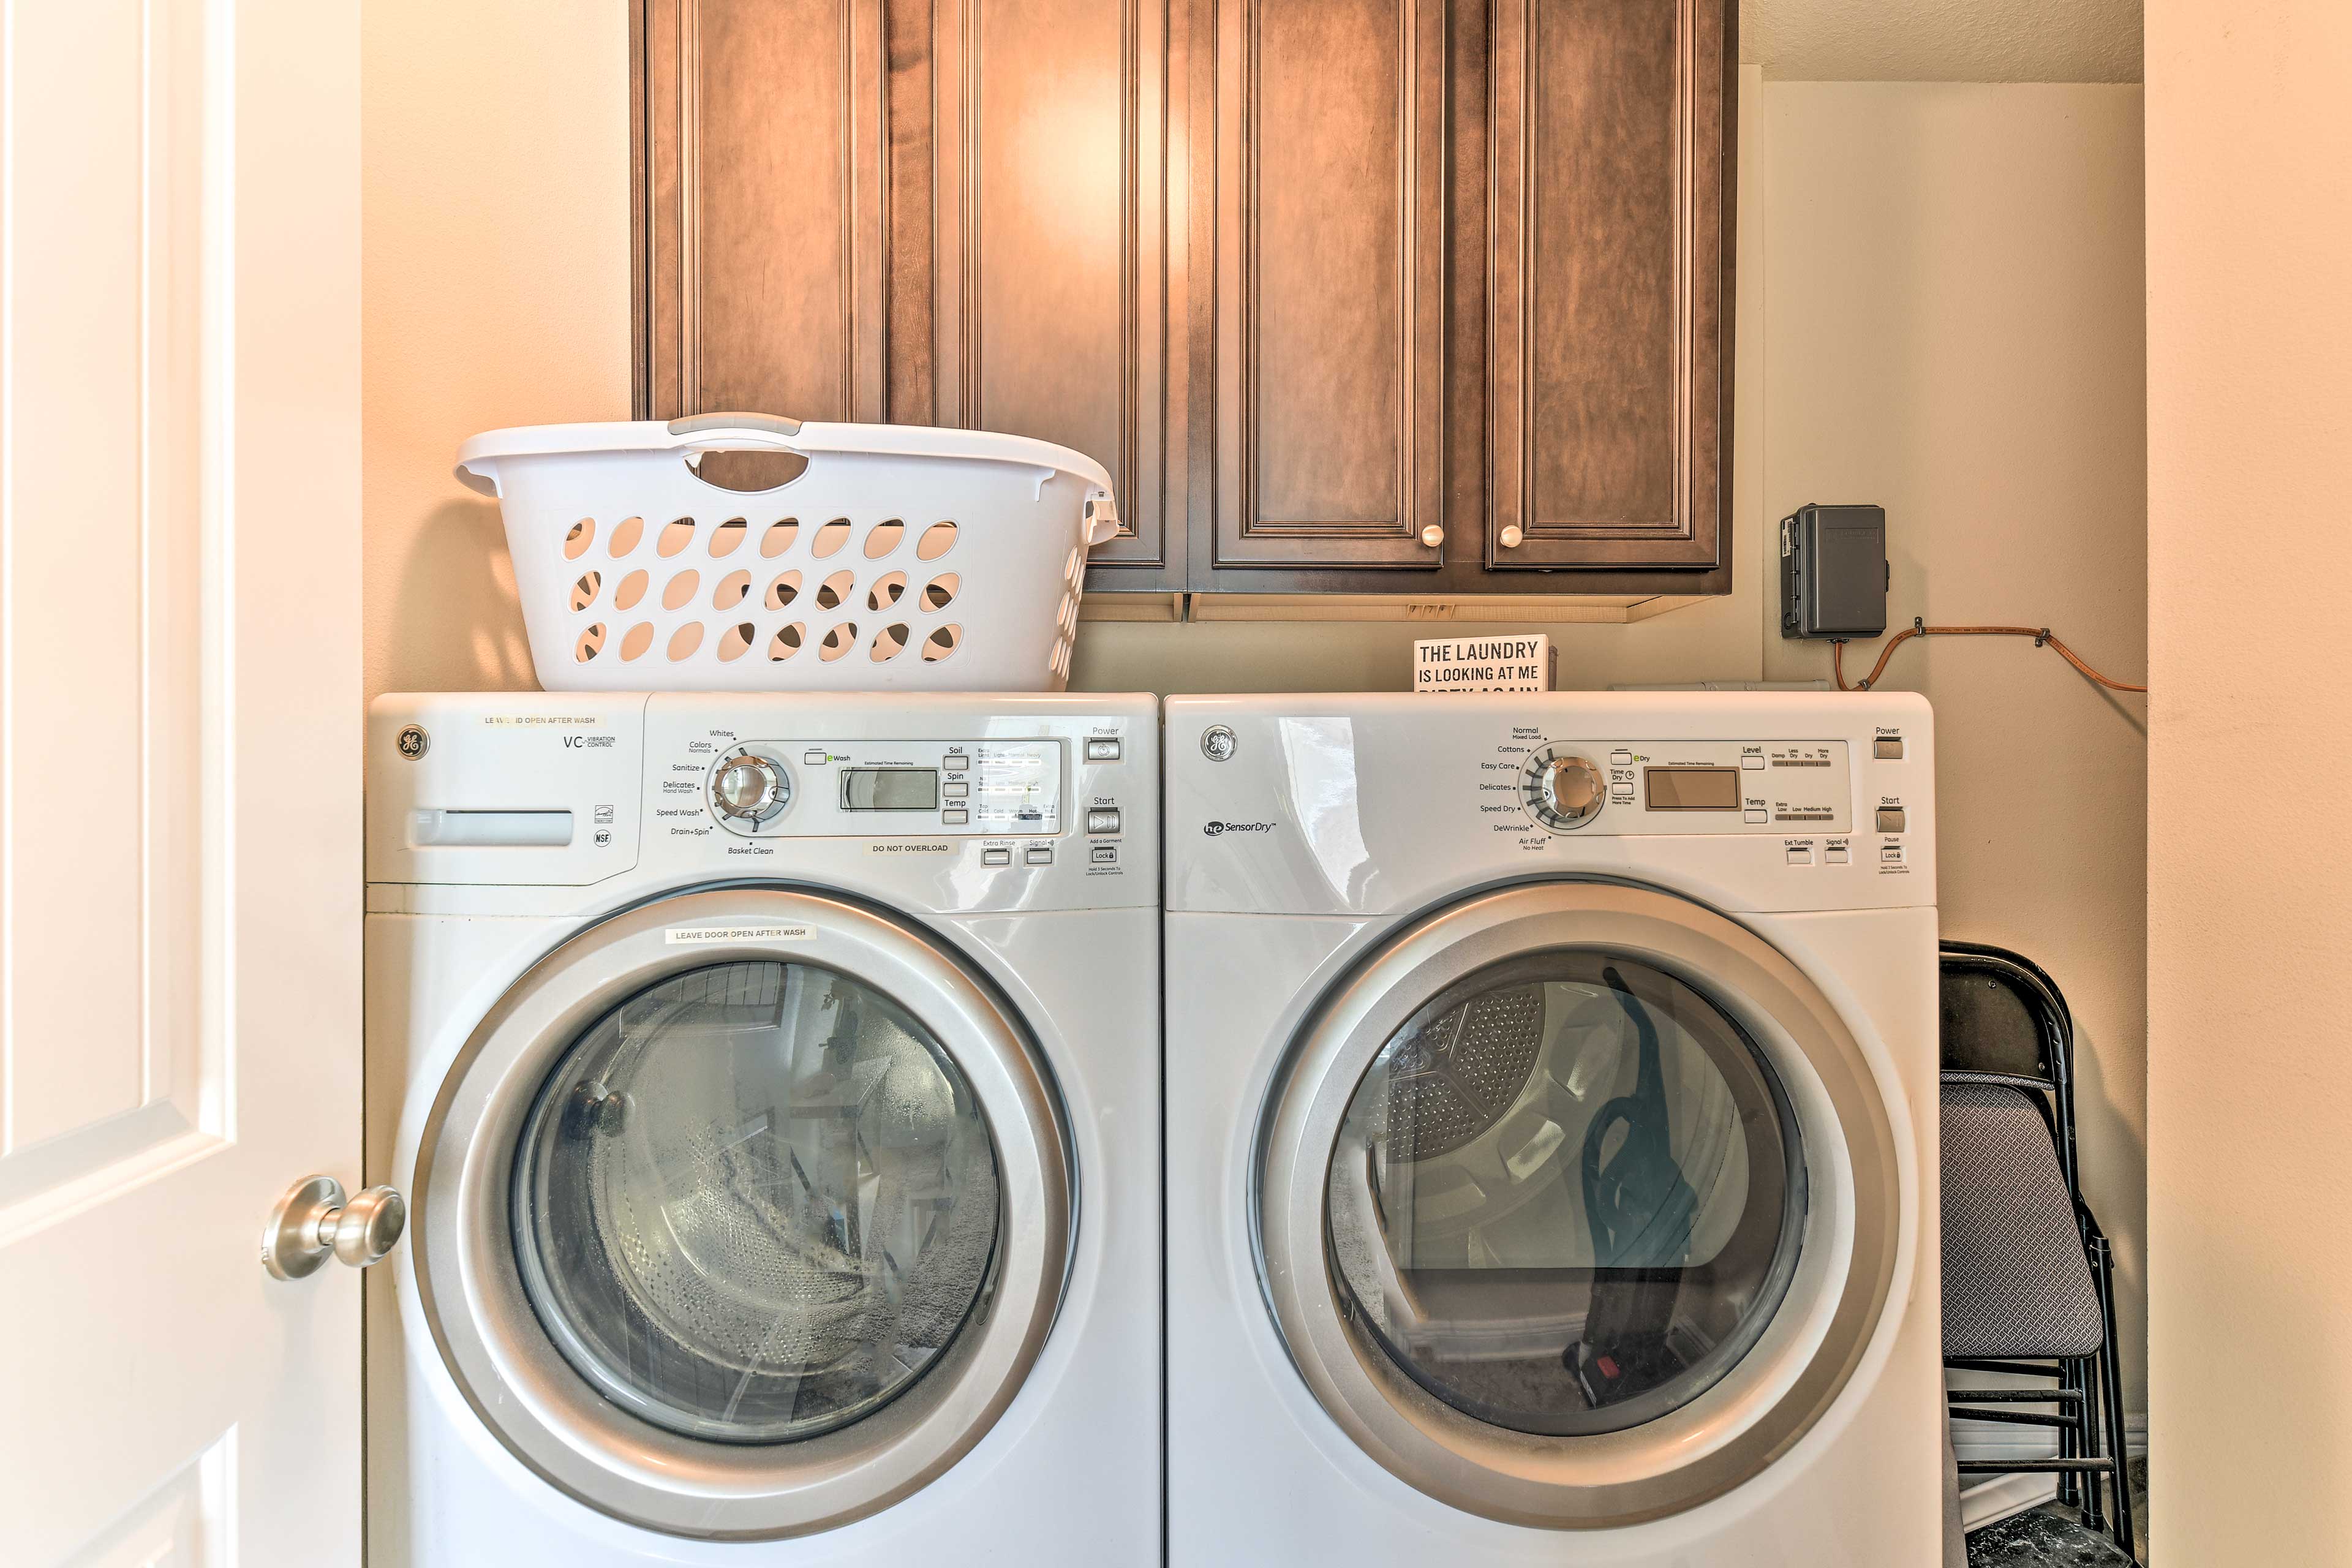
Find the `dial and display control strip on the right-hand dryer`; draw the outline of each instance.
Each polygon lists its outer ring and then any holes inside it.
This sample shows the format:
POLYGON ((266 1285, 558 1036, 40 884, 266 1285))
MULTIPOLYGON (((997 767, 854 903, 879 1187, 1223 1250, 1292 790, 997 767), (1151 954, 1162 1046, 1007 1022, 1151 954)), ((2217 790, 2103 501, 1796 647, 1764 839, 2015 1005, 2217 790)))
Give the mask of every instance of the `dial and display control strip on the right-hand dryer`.
POLYGON ((1844 741, 1541 741, 1519 802, 1545 832, 1853 832, 1844 741))

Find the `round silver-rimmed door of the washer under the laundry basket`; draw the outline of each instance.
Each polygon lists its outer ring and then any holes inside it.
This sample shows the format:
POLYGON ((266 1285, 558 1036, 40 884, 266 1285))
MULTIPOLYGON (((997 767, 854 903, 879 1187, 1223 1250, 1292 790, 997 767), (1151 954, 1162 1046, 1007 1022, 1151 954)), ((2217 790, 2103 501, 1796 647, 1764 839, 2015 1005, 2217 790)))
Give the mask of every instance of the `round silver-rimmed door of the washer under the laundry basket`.
POLYGON ((950 954, 814 893, 694 893, 564 943, 466 1044, 416 1281, 475 1413, 562 1490, 800 1535, 1002 1415, 1070 1187, 1025 1034, 950 954))

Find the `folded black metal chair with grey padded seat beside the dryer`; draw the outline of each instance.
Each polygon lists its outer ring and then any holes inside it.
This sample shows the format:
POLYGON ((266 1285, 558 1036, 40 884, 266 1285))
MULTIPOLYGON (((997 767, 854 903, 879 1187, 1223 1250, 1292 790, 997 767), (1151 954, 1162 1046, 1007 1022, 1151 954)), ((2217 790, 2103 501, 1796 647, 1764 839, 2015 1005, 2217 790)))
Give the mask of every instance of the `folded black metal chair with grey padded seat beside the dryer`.
POLYGON ((1943 943, 1940 1034, 1943 1363, 2053 1382, 1955 1389, 1952 1418, 2058 1434, 2056 1460, 1959 1469, 2056 1472, 2058 1500, 2133 1556, 2112 1253, 2074 1161, 2074 1020, 2030 959, 1943 943))

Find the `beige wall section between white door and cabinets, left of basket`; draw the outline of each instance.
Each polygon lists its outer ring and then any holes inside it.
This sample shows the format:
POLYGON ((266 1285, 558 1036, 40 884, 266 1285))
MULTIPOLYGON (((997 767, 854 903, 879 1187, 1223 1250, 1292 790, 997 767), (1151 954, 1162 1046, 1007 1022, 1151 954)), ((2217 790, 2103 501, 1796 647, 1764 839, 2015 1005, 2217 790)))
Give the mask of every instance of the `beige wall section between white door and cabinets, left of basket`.
POLYGON ((362 12, 369 696, 532 684, 499 508, 449 465, 475 430, 628 418, 626 19, 581 0, 362 12))

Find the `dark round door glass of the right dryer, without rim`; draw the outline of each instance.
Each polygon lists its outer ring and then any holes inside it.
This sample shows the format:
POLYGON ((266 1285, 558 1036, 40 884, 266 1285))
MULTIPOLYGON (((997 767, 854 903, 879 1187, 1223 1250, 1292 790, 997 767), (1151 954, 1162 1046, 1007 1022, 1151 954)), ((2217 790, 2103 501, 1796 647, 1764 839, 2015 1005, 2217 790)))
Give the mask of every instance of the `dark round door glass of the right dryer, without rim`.
POLYGON ((1684 980, 1552 950, 1449 985, 1348 1103, 1324 1204, 1369 1349, 1515 1432, 1635 1427, 1757 1342, 1804 1152, 1755 1041, 1684 980))

